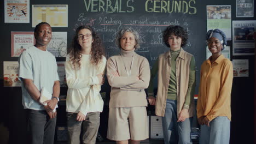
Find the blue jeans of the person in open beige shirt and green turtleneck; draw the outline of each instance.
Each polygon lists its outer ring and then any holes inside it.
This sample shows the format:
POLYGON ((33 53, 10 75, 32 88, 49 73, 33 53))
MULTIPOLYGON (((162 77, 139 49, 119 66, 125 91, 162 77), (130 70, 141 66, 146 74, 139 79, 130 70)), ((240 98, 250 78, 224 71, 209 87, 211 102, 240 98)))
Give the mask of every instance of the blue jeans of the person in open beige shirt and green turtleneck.
POLYGON ((164 133, 165 144, 190 144, 191 118, 186 118, 184 122, 177 121, 177 101, 167 99, 165 116, 162 117, 162 131, 164 133))

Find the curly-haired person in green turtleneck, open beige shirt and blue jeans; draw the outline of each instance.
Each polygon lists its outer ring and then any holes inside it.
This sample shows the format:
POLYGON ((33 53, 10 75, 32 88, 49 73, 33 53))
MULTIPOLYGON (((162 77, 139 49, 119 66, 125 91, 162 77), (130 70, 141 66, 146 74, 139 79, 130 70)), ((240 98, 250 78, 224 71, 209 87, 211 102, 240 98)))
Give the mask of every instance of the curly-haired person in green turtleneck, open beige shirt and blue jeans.
POLYGON ((168 26, 163 32, 164 43, 170 51, 162 53, 155 62, 148 88, 149 104, 162 117, 165 144, 191 143, 190 123, 195 110, 195 58, 182 47, 188 33, 181 26, 168 26), (153 80, 158 73, 158 93, 155 98, 153 80))

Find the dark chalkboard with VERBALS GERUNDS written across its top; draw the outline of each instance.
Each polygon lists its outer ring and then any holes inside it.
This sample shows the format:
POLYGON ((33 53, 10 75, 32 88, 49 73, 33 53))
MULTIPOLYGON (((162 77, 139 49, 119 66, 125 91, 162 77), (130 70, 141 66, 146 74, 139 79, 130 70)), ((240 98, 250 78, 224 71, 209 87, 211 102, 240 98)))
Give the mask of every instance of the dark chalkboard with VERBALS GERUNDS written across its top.
MULTIPOLYGON (((136 52, 146 57, 152 68, 158 56, 170 50, 163 43, 162 31, 169 25, 179 25, 188 31, 188 44, 183 49, 195 56, 197 69, 205 60, 206 23, 198 14, 199 4, 196 0, 80 2, 83 3, 77 4, 75 10, 69 10, 71 27, 75 31, 79 25, 92 26, 100 34, 107 58, 120 52, 115 44, 119 29, 132 27, 142 39, 141 48, 136 52)), ((70 7, 73 9, 72 5, 70 7)), ((196 77, 199 77, 198 70, 196 77)))

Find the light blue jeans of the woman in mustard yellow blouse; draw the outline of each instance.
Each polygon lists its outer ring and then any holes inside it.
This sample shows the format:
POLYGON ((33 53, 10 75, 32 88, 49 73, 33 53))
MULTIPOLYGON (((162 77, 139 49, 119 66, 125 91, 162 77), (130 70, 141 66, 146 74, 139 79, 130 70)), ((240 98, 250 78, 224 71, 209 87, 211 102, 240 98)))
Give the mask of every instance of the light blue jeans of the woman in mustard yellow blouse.
POLYGON ((201 125, 200 144, 229 143, 230 121, 228 117, 216 117, 210 122, 210 127, 201 125))

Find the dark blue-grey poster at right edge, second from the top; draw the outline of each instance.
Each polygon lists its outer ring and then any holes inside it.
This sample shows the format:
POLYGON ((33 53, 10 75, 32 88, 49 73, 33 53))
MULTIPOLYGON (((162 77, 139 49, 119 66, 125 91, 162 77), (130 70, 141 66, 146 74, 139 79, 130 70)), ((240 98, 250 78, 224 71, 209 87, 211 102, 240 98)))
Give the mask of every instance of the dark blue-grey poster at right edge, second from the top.
POLYGON ((232 47, 234 56, 254 55, 253 33, 256 21, 232 21, 232 47))

